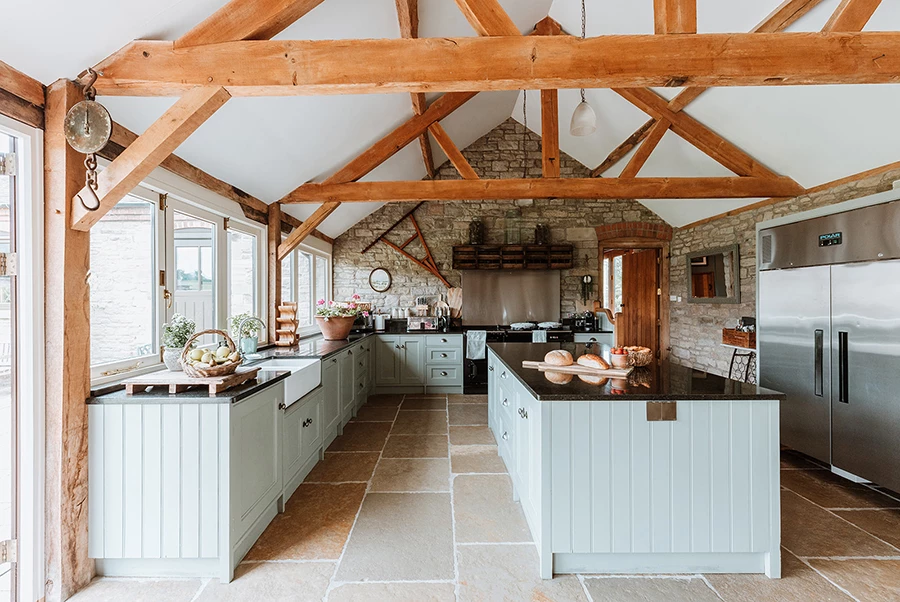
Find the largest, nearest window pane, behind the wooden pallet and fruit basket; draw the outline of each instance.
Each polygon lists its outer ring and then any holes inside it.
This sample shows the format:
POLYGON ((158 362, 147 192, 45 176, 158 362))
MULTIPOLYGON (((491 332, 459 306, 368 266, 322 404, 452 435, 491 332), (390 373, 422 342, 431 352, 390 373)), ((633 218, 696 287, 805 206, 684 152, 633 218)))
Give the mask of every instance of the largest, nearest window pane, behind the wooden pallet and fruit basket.
POLYGON ((91 228, 91 364, 156 353, 156 206, 127 196, 91 228))

